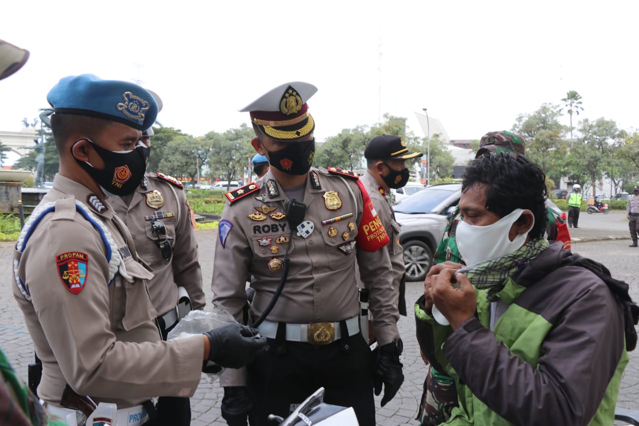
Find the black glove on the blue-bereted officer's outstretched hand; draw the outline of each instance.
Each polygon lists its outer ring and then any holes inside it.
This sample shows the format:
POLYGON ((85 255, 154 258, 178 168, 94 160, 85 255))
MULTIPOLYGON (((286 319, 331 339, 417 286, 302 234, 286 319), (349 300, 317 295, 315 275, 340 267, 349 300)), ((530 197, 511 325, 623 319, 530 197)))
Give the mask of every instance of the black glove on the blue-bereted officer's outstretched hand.
POLYGON ((211 343, 209 361, 222 367, 240 368, 268 349, 266 338, 258 330, 237 322, 204 333, 211 343))

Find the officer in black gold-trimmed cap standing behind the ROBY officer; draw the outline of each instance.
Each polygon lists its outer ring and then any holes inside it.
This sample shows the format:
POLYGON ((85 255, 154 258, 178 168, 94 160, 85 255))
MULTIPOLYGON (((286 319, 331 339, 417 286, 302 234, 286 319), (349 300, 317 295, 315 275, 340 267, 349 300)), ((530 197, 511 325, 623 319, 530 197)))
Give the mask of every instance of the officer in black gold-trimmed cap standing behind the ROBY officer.
POLYGON ((364 150, 367 170, 362 175, 362 182, 373 200, 373 206, 380 216, 381 224, 389 233, 390 243, 386 247, 393 267, 396 306, 399 313, 404 316, 406 316, 404 250, 399 243, 400 229, 399 223, 395 220, 390 189, 398 189, 408 183, 410 170, 406 167, 406 161, 417 159, 422 155, 424 154, 408 150, 404 139, 390 134, 382 134, 371 139, 364 150))

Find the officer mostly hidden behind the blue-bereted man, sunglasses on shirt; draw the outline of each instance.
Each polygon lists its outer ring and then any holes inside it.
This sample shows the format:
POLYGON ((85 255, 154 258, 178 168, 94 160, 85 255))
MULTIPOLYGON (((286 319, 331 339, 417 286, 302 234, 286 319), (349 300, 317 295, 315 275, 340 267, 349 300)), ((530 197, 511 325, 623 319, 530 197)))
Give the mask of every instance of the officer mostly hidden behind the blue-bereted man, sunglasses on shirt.
MULTIPOLYGON (((162 111, 162 100, 150 91, 162 111)), ((142 143, 151 148, 153 127, 142 132, 142 143)), ((202 270, 197 260, 197 241, 191 223, 189 201, 176 178, 164 173, 144 173, 137 188, 126 195, 109 196, 107 201, 127 225, 135 240, 138 255, 153 272, 147 280, 151 303, 162 339, 180 321, 187 310, 203 309, 206 299, 202 288, 202 270), (180 294, 178 294, 180 288, 180 294), (182 291, 187 296, 182 296, 182 291), (182 296, 182 297, 180 297, 182 296), (178 306, 178 298, 185 308, 178 306)), ((171 424, 190 422, 189 398, 162 397, 171 424), (170 408, 169 408, 170 407, 170 408)), ((165 420, 169 423, 169 419, 165 420)))

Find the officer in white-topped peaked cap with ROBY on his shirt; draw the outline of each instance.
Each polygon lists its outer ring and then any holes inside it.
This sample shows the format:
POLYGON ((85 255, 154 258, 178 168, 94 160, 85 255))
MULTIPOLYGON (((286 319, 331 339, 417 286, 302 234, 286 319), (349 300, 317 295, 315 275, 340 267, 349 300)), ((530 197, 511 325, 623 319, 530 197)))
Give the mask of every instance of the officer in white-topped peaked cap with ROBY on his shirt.
POLYGON ((270 168, 226 194, 213 300, 241 320, 244 278, 252 275, 250 317, 260 322, 271 306, 258 326, 271 349, 246 370, 222 374, 229 425, 245 424, 251 407, 252 425, 268 424, 268 414, 286 417, 320 386, 327 403, 353 407, 361 425, 374 425, 373 384, 378 395, 383 384, 385 405, 403 381, 399 315, 383 249, 389 239, 357 173, 311 167, 315 123, 306 101, 316 91, 308 83, 282 84, 241 110, 250 112, 251 145, 270 168), (358 324, 356 263, 381 345, 374 365, 358 324))

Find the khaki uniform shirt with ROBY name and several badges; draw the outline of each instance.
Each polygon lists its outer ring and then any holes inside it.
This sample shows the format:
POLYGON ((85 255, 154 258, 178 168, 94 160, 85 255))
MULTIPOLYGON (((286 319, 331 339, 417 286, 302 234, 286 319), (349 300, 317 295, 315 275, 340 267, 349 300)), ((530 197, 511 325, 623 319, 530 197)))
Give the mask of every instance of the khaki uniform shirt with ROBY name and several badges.
MULTIPOLYGON (((277 219, 285 214, 289 201, 284 189, 270 170, 256 184, 259 191, 227 203, 222 212, 213 260, 213 301, 221 303, 242 322, 245 281, 252 275, 251 287, 255 289, 252 315, 259 316, 277 288, 282 274, 277 265, 283 262, 286 247, 290 245, 288 280, 268 320, 309 324, 355 317, 360 311, 355 282, 357 262, 362 281, 370 290, 369 304, 378 342, 383 345, 399 337, 399 313, 393 303, 396 292, 392 287, 388 250, 364 251, 355 246, 350 253, 345 253, 340 249, 354 243, 360 225, 363 206, 357 182, 330 175, 326 169, 311 168, 303 201, 307 206, 304 220, 313 223, 314 231, 304 239, 294 230, 289 242, 286 242, 290 235, 288 221, 285 217, 277 219), (317 185, 313 185, 313 173, 317 185), (272 193, 269 193, 269 181, 274 188, 272 193), (323 195, 328 191, 337 191, 341 207, 335 210, 326 207, 325 203, 330 205, 330 201, 325 201, 323 195), (257 213, 264 216, 262 220, 258 220, 262 216, 257 213), (321 225, 325 219, 348 213, 353 217, 321 225), (330 228, 335 228, 334 236, 329 235, 330 228)), ((220 385, 243 386, 244 375, 244 368, 226 370, 220 385)))

